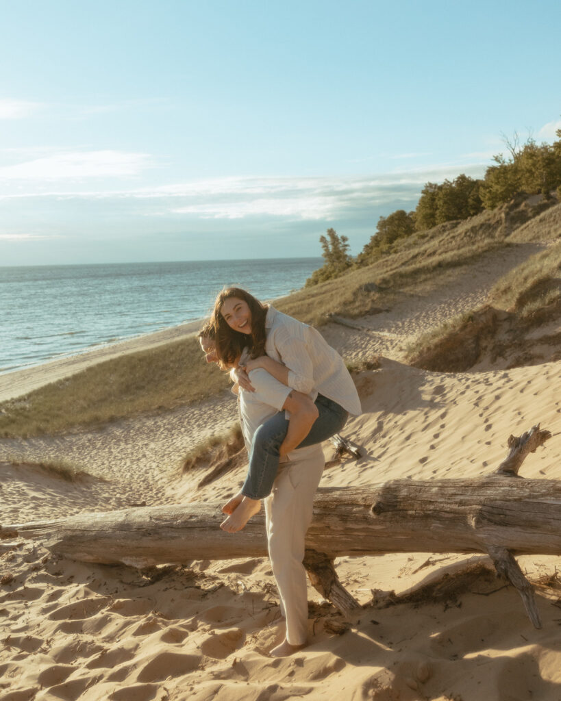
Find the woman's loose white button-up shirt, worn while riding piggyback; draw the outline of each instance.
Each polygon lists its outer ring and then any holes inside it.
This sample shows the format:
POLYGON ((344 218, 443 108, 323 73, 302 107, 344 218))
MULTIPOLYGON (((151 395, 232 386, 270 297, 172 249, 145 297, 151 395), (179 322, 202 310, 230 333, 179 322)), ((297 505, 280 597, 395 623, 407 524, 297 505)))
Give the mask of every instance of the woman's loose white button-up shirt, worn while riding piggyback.
POLYGON ((265 353, 288 367, 288 384, 307 395, 320 393, 349 414, 362 413, 355 383, 343 358, 312 326, 273 307, 265 317, 265 353))

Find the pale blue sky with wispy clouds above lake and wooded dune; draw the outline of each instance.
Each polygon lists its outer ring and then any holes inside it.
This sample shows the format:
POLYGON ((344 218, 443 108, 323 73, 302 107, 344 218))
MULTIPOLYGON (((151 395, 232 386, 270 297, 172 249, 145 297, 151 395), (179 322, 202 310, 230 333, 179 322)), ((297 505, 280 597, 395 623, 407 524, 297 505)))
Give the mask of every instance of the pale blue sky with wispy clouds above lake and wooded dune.
POLYGON ((357 253, 561 127, 558 0, 0 10, 0 266, 357 253))

